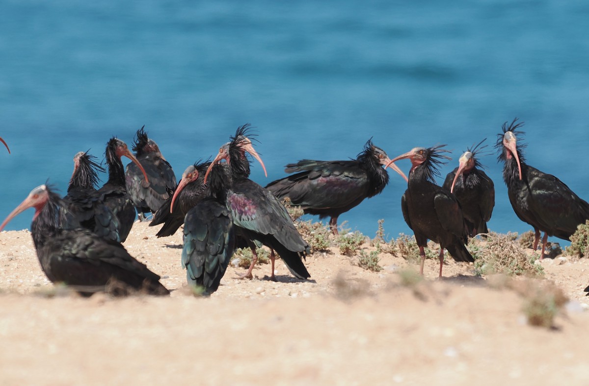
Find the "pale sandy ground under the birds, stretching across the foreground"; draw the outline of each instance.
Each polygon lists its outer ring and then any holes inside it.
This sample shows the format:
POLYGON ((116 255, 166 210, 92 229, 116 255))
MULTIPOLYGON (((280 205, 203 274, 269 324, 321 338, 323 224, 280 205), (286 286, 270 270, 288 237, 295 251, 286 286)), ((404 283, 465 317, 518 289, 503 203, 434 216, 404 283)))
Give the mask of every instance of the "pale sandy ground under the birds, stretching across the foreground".
POLYGON ((29 232, 2 232, 0 384, 589 384, 588 259, 542 263, 570 298, 547 329, 527 324, 517 291, 451 259, 444 280, 428 260, 408 287, 401 257, 381 254, 373 273, 332 249, 307 257, 312 280, 280 260, 276 283, 269 264, 253 280, 229 267, 219 291, 195 297, 181 234, 156 231, 135 223, 125 247, 166 298, 55 294, 29 232))

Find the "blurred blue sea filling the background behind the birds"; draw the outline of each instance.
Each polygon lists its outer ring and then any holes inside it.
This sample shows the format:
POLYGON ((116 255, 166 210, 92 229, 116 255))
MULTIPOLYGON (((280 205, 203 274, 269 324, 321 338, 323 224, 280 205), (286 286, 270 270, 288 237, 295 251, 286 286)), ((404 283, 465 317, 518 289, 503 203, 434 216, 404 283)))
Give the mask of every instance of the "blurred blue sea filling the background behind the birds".
MULTIPOLYGON (((588 21, 589 2, 566 0, 3 1, 0 217, 47 180, 64 193, 75 153, 103 159, 111 136, 131 146, 145 125, 179 178, 251 123, 262 185, 299 159, 356 157, 370 138, 391 158, 448 144, 442 183, 487 138, 489 228, 522 233, 493 148, 502 123, 523 120, 528 164, 589 199, 588 21)), ((340 223, 412 234, 406 184, 389 174, 340 223)))

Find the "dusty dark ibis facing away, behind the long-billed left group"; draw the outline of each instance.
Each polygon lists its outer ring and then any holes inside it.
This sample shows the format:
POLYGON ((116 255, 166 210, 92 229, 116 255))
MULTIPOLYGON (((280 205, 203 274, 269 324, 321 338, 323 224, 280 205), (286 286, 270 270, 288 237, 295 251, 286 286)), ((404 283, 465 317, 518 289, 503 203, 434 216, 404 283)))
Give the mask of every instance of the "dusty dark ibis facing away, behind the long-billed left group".
POLYGON ((147 173, 149 182, 145 182, 143 171, 135 163, 128 164, 125 172, 127 194, 140 220, 145 219, 146 213, 155 213, 160 209, 170 197, 170 190, 176 187, 174 170, 161 154, 157 143, 147 137, 144 127, 135 134, 133 151, 147 173))

